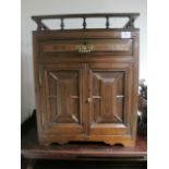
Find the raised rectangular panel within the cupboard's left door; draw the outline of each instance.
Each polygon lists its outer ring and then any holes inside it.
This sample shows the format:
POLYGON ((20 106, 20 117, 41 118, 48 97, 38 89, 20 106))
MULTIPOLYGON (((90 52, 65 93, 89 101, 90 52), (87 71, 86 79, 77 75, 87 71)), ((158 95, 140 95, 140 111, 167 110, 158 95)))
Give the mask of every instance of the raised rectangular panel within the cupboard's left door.
POLYGON ((80 123, 80 85, 77 71, 49 71, 50 121, 80 123))

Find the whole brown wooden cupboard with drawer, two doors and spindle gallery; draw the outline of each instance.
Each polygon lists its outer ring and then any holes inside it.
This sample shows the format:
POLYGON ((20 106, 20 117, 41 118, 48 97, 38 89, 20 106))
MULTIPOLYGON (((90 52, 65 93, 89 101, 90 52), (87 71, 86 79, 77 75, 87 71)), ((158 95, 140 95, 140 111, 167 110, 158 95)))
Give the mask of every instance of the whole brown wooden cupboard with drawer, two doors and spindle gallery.
POLYGON ((57 31, 41 20, 58 15, 33 16, 38 24, 33 47, 40 144, 90 141, 134 146, 138 28, 130 20, 123 28, 86 28, 84 20, 83 29, 63 29, 61 16, 62 29, 57 31))

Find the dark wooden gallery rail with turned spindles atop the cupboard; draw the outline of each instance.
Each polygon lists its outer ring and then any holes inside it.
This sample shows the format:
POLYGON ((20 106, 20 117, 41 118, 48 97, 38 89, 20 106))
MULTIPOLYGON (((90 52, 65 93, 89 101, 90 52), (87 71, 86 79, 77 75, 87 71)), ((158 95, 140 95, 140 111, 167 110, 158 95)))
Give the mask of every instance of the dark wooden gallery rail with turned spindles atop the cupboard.
POLYGON ((60 20, 60 29, 64 29, 64 20, 67 19, 82 19, 83 29, 87 29, 87 19, 106 19, 105 28, 110 28, 109 19, 122 17, 129 19, 121 28, 134 28, 134 22, 140 13, 81 13, 81 14, 58 14, 58 15, 35 15, 32 19, 37 24, 37 31, 50 31, 50 28, 43 22, 44 20, 60 20))

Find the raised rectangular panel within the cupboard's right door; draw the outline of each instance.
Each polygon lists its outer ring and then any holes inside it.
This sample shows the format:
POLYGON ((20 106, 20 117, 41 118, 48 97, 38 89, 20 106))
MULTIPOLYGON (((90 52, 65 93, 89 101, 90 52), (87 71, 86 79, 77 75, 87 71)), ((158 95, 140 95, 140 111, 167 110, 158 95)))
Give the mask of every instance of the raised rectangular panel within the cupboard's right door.
POLYGON ((124 72, 93 71, 93 112, 97 123, 122 123, 124 72))

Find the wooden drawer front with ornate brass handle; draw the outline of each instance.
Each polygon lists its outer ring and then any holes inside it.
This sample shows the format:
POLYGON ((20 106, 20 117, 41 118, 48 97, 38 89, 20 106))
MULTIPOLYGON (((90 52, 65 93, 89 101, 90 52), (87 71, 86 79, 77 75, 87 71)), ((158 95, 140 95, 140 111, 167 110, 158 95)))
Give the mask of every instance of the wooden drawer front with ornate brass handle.
POLYGON ((96 40, 52 40, 41 41, 43 53, 96 53, 132 55, 132 39, 96 39, 96 40))

